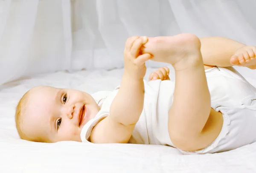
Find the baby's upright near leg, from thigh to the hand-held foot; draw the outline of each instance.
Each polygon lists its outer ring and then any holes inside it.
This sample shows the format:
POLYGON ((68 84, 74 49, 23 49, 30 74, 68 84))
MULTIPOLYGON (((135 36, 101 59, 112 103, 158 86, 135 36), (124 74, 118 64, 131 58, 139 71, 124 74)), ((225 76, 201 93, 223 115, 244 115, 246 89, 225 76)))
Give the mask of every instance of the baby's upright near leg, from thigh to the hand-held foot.
POLYGON ((175 69, 175 92, 168 126, 173 144, 181 150, 206 147, 222 127, 222 116, 216 115, 213 119, 210 116, 216 112, 211 109, 200 46, 195 35, 181 34, 149 38, 143 49, 154 56, 153 61, 171 63, 175 69), (206 124, 209 133, 204 133, 206 124))

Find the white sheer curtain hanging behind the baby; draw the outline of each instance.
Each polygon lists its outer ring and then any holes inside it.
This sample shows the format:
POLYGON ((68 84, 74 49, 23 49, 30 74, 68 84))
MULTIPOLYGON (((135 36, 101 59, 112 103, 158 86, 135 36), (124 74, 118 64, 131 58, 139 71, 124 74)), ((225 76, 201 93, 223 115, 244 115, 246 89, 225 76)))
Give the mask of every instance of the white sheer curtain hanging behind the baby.
POLYGON ((132 35, 190 32, 256 45, 255 9, 256 0, 0 0, 0 84, 120 68, 132 35))

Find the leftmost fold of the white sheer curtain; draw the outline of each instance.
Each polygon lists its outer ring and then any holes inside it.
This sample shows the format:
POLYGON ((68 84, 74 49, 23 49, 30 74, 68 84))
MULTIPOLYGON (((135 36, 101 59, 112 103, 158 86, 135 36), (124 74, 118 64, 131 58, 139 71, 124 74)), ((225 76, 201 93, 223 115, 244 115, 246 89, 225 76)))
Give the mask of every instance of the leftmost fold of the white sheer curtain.
POLYGON ((8 0, 3 5, 0 34, 0 84, 20 78, 29 65, 29 47, 32 40, 38 0, 22 3, 8 0))

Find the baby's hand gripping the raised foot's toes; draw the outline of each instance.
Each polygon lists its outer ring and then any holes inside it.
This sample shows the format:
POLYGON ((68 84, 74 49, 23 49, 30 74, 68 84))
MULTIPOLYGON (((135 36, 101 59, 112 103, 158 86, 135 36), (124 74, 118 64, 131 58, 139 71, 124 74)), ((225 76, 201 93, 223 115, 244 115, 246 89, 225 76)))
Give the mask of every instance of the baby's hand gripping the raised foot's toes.
POLYGON ((151 58, 148 53, 141 54, 141 46, 148 37, 130 37, 126 40, 124 51, 125 73, 134 79, 143 79, 146 73, 145 62, 151 58))

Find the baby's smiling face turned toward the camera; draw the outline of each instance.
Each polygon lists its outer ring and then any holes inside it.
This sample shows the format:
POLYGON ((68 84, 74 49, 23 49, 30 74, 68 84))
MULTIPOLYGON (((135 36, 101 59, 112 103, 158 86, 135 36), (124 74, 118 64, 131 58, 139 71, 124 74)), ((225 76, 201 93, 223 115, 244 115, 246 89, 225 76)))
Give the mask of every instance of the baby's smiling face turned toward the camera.
POLYGON ((80 133, 100 108, 91 95, 73 89, 37 86, 30 90, 23 132, 37 141, 81 141, 80 133))

